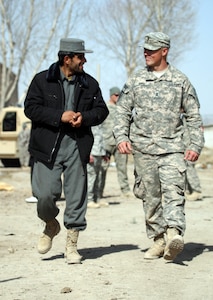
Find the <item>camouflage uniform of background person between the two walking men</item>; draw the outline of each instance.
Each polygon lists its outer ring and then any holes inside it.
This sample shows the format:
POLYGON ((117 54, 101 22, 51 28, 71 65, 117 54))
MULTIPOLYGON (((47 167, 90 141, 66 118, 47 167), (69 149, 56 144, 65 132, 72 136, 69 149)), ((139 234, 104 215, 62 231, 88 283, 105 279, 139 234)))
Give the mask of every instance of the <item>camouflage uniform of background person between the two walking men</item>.
MULTIPOLYGON (((127 193, 130 191, 128 176, 127 176, 128 155, 119 153, 119 151, 116 148, 115 138, 113 136, 114 119, 116 117, 116 105, 107 103, 107 107, 109 110, 109 115, 103 122, 104 145, 108 157, 111 157, 112 155, 114 156, 120 189, 123 193, 127 193)), ((108 162, 104 160, 102 161, 101 194, 103 194, 105 180, 106 180, 106 173, 109 164, 110 161, 108 162)))

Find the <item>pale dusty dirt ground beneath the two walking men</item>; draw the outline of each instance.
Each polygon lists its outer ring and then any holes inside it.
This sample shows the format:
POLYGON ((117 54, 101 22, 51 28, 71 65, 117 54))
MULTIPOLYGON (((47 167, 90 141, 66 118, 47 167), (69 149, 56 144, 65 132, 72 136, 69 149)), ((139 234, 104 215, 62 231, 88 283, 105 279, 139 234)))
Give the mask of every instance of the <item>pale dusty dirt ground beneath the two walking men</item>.
MULTIPOLYGON (((132 186, 131 161, 128 168, 132 186)), ((67 265, 64 200, 58 202, 62 230, 52 249, 40 255, 37 240, 44 224, 37 218, 36 204, 25 202, 31 196, 29 170, 0 167, 0 182, 13 187, 0 191, 0 298, 213 299, 213 167, 209 161, 198 174, 203 201, 186 202, 185 247, 174 262, 144 260, 152 241, 146 236, 142 203, 134 196, 121 197, 116 169, 110 167, 105 188, 110 205, 88 209, 88 226, 78 244, 84 260, 67 265)))

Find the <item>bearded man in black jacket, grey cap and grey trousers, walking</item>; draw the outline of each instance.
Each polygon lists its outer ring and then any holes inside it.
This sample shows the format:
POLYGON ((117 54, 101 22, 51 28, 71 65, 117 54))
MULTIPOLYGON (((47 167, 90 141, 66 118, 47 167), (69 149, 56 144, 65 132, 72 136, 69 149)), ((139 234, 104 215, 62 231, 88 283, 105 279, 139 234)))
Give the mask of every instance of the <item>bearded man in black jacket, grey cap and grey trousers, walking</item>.
POLYGON ((38 217, 46 223, 38 251, 47 253, 60 231, 56 201, 62 193, 63 173, 67 263, 82 259, 77 240, 79 231, 86 228, 91 126, 102 123, 108 115, 98 82, 83 70, 85 53, 91 52, 83 40, 61 39, 59 60, 33 78, 25 99, 25 114, 32 121, 32 190, 38 199, 38 217))

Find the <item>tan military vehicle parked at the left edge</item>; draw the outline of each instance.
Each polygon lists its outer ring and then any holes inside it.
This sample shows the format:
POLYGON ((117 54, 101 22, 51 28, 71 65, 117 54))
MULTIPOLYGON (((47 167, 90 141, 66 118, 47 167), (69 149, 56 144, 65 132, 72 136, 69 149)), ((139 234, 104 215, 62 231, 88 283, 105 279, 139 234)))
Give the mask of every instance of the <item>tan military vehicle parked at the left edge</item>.
POLYGON ((24 123, 31 126, 22 107, 10 106, 0 111, 0 159, 5 167, 20 167, 18 136, 24 123))

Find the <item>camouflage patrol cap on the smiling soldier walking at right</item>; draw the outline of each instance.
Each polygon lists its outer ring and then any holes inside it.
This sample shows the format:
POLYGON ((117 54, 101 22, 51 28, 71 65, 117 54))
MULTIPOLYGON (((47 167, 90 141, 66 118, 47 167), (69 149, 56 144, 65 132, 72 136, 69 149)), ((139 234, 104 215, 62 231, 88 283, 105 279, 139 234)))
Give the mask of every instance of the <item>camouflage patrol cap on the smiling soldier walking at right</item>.
POLYGON ((150 32, 145 36, 143 47, 148 50, 158 50, 170 47, 170 38, 163 32, 150 32))

